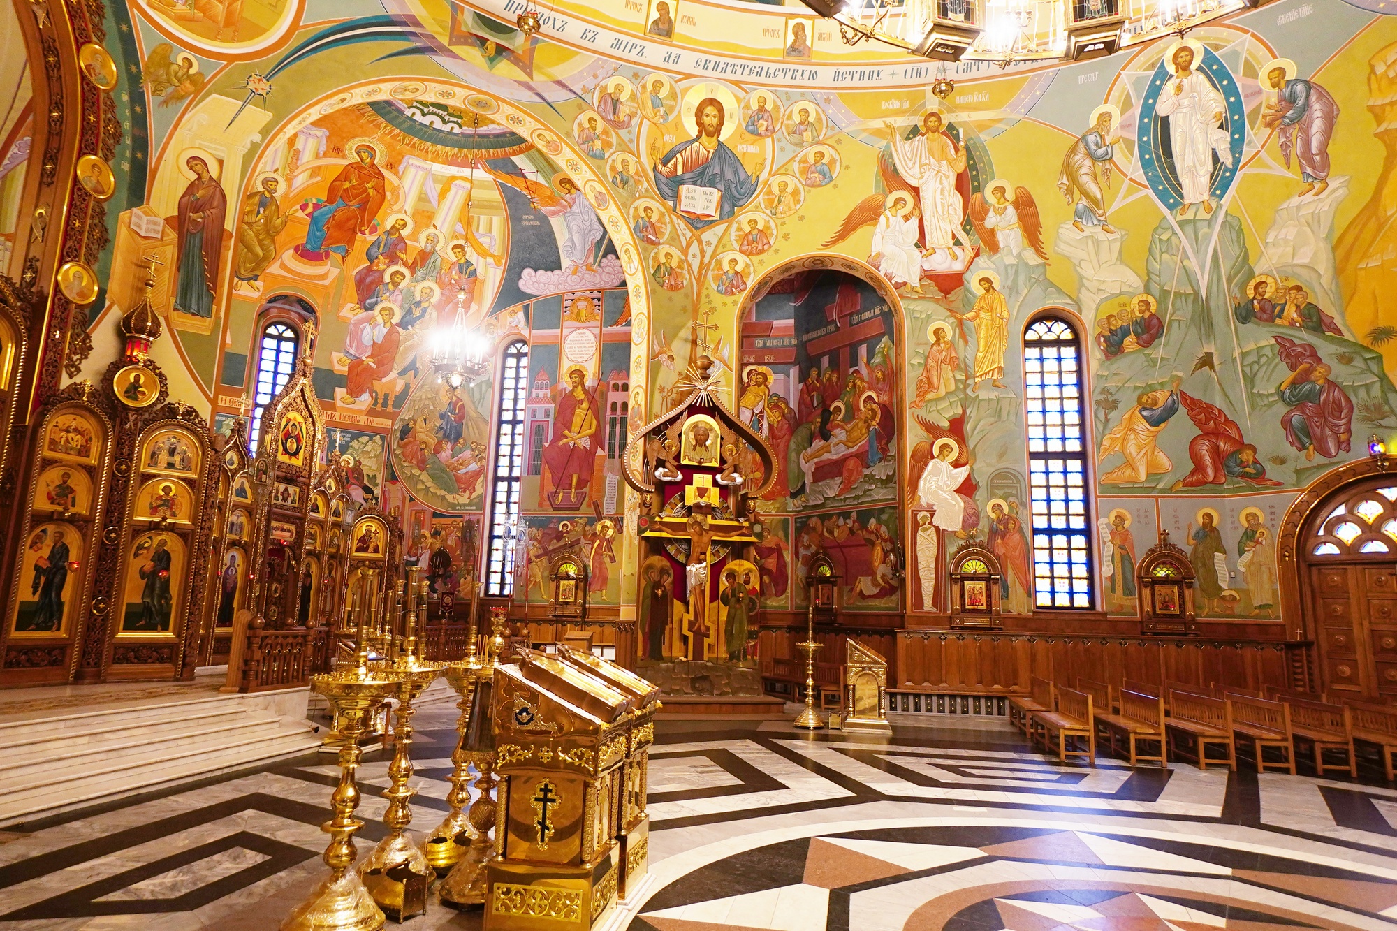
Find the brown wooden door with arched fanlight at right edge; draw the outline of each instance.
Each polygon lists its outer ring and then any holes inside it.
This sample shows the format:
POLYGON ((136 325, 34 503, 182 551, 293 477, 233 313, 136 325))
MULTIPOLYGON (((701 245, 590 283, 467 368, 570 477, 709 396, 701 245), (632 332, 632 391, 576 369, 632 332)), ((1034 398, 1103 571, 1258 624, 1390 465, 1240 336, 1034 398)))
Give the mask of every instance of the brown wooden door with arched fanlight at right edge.
POLYGON ((1352 486, 1302 537, 1323 688, 1397 696, 1397 482, 1352 486))

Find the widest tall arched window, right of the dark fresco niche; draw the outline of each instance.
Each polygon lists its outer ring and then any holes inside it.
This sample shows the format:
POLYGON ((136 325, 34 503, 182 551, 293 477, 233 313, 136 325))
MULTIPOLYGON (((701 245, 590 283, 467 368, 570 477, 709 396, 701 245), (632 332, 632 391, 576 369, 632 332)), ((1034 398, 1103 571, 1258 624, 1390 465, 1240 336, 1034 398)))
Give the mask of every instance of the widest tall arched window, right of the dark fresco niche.
POLYGON ((1028 498, 1032 503, 1034 605, 1091 608, 1081 342, 1060 317, 1024 333, 1028 498))

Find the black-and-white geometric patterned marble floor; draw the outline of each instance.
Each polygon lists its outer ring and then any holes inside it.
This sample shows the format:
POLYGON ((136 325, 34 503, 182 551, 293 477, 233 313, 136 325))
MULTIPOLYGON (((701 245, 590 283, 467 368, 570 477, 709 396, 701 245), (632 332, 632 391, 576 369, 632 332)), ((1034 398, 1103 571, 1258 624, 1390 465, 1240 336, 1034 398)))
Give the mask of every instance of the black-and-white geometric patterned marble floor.
MULTIPOLYGON (((999 719, 935 720, 893 738, 661 720, 630 931, 1397 928, 1390 786, 1059 766, 999 719)), ((418 829, 446 811, 454 721, 416 719, 418 829)), ((372 843, 387 759, 366 759, 372 843)), ((0 931, 270 931, 324 869, 334 779, 310 755, 13 828, 0 931)))

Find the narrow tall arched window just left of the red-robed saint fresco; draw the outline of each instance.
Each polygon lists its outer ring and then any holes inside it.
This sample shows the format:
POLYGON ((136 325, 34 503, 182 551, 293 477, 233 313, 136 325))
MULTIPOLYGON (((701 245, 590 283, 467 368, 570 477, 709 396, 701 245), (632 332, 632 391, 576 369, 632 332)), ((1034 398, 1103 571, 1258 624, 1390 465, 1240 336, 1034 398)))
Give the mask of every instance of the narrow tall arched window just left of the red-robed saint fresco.
POLYGON ((518 340, 500 358, 499 433, 495 445, 495 482, 490 498, 490 549, 485 566, 485 594, 514 590, 514 540, 524 477, 524 414, 528 404, 528 342, 518 340))

